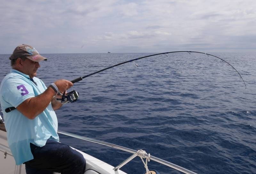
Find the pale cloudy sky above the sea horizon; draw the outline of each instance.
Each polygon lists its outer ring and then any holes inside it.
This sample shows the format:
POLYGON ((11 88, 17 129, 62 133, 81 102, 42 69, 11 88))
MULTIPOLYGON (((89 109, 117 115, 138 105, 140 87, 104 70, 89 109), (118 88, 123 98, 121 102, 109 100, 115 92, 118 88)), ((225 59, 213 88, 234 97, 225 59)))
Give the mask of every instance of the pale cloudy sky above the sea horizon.
POLYGON ((0 2, 0 54, 256 51, 255 0, 0 2))

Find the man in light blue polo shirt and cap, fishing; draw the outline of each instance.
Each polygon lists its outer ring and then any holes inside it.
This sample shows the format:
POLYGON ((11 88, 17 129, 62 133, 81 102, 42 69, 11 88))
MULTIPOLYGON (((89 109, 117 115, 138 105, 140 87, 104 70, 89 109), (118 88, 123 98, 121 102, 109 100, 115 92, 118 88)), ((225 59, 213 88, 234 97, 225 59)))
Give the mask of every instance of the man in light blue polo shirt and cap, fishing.
POLYGON ((11 73, 0 86, 0 102, 9 147, 17 165, 27 174, 83 174, 83 155, 59 141, 54 110, 61 107, 61 93, 73 86, 57 80, 48 88, 35 77, 39 62, 47 60, 29 45, 16 47, 9 58, 11 73))

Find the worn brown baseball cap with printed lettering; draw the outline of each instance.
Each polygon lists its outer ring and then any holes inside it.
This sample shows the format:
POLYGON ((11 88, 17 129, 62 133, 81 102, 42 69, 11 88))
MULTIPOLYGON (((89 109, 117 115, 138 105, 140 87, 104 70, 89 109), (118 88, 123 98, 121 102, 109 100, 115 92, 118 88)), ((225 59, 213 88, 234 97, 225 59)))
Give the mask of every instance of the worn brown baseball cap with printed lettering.
POLYGON ((42 60, 47 61, 47 59, 41 56, 34 47, 31 47, 30 45, 25 45, 25 44, 19 45, 14 49, 10 57, 10 60, 17 59, 19 57, 26 57, 34 62, 40 62, 42 60))

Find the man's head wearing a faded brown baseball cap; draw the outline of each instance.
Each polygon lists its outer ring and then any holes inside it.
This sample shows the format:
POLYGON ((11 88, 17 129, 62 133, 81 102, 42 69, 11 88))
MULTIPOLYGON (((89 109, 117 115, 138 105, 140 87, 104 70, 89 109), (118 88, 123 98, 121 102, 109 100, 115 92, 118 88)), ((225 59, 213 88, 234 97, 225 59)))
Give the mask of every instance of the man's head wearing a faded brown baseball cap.
POLYGON ((47 60, 35 48, 24 44, 16 47, 9 59, 12 69, 27 74, 30 78, 36 76, 36 71, 40 67, 39 62, 47 60))

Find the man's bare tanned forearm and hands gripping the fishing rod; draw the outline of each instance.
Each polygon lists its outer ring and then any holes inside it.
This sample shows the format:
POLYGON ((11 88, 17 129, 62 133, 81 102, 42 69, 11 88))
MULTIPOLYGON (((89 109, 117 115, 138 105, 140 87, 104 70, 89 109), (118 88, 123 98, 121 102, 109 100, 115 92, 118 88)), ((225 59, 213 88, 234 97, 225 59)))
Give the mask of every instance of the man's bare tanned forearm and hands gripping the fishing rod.
MULTIPOLYGON (((73 86, 73 83, 68 80, 57 80, 54 83, 59 88, 59 91, 66 91, 73 86)), ((23 101, 16 109, 18 109, 28 119, 34 119, 49 105, 53 100, 53 96, 55 96, 55 91, 51 87, 48 87, 42 94, 23 101)), ((54 110, 56 110, 56 108, 60 108, 58 104, 53 104, 52 107, 53 109, 55 108, 54 110)))

